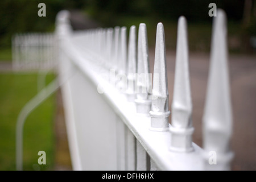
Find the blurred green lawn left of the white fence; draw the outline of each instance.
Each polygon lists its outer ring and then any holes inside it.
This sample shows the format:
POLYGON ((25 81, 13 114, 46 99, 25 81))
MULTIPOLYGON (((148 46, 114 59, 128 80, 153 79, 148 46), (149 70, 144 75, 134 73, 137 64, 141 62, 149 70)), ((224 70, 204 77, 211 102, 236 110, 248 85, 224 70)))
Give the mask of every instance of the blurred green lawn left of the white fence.
MULTIPOLYGON (((22 107, 37 93, 35 73, 0 74, 0 170, 15 170, 15 127, 22 107)), ((46 77, 47 84, 54 75, 46 77)), ((23 169, 51 170, 54 165, 53 94, 28 116, 24 125, 23 169), (46 165, 38 164, 38 152, 46 152, 46 165)))

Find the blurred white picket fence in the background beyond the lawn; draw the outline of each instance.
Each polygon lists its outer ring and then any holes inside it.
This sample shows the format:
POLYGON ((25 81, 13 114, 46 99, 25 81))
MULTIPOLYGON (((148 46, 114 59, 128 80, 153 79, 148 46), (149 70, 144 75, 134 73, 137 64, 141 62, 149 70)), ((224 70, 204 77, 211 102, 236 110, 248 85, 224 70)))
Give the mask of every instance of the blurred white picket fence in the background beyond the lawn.
POLYGON ((13 69, 46 71, 56 67, 56 39, 51 33, 28 33, 13 36, 13 69))

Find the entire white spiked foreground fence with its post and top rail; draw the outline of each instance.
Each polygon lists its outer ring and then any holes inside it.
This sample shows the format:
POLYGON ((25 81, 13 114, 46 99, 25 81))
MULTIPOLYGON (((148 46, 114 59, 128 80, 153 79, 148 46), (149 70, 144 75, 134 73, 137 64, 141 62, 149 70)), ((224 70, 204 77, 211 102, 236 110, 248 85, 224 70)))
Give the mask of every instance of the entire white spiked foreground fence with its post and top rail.
POLYGON ((146 24, 139 25, 138 44, 136 27, 130 27, 127 44, 126 27, 75 32, 67 11, 61 11, 56 20, 59 71, 72 75, 61 90, 73 169, 230 169, 232 110, 224 11, 218 10, 213 22, 203 148, 192 142, 187 23, 183 16, 178 21, 171 112, 162 23, 157 26, 151 75, 146 24))

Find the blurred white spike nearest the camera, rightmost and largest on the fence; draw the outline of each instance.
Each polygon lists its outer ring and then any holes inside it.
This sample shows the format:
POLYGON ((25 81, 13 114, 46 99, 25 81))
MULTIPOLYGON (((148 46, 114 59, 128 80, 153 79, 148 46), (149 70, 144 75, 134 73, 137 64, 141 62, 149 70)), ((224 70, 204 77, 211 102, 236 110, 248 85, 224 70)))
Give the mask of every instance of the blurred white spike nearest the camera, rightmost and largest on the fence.
POLYGON ((226 15, 221 9, 213 19, 207 98, 203 115, 203 148, 205 169, 228 170, 233 152, 232 107, 229 90, 226 15), (210 165, 209 155, 216 155, 217 165, 210 165))

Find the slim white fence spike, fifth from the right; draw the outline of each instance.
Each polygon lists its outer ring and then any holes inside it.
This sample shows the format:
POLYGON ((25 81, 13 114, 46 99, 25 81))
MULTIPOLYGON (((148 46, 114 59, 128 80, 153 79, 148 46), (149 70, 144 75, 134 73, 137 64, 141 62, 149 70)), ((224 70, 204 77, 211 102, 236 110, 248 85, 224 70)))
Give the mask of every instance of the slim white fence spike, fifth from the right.
POLYGON ((127 100, 133 102, 135 100, 135 73, 137 72, 136 60, 136 27, 130 27, 129 47, 128 47, 128 66, 127 66, 127 100))

